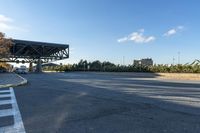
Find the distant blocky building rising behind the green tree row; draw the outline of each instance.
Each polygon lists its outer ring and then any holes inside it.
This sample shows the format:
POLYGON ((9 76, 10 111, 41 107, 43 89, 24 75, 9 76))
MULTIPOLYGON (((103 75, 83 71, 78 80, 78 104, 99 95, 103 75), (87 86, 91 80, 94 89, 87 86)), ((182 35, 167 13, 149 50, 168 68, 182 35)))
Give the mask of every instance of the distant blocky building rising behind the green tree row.
POLYGON ((134 60, 133 65, 134 66, 153 66, 153 60, 151 58, 134 60))

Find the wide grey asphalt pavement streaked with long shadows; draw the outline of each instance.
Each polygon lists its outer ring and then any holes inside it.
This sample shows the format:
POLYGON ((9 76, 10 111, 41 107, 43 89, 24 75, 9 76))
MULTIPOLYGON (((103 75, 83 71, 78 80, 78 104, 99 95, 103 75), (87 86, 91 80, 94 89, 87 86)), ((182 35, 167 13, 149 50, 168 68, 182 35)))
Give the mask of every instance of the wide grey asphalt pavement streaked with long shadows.
POLYGON ((200 133, 200 84, 119 73, 27 74, 27 133, 200 133), (148 77, 148 78, 146 78, 148 77))

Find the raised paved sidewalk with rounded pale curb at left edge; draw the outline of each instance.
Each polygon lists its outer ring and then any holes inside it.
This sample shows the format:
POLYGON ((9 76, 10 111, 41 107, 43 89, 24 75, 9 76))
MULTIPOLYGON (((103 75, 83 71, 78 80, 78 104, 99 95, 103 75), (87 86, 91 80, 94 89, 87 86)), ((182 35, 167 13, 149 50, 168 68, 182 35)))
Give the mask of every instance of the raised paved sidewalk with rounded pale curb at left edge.
POLYGON ((0 73, 0 88, 26 84, 27 80, 15 73, 0 73))

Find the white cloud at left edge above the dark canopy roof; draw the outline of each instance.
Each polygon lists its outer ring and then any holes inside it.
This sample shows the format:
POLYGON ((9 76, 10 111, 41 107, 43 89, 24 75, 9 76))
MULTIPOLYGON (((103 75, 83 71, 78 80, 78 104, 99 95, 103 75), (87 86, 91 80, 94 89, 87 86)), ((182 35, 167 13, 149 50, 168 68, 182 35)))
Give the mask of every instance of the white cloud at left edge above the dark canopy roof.
POLYGON ((13 25, 13 22, 14 20, 12 18, 0 14, 0 32, 7 32, 11 30, 27 32, 26 29, 13 25))

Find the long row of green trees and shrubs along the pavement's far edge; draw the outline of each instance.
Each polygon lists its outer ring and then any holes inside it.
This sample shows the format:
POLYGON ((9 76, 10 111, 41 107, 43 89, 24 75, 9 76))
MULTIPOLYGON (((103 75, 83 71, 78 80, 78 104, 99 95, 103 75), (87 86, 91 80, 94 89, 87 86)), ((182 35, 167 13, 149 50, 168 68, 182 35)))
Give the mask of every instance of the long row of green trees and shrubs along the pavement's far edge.
POLYGON ((115 65, 105 61, 88 62, 80 60, 73 65, 45 66, 45 71, 96 71, 96 72, 156 72, 156 73, 200 73, 200 61, 195 60, 192 64, 179 65, 153 65, 153 66, 134 66, 134 65, 115 65))

